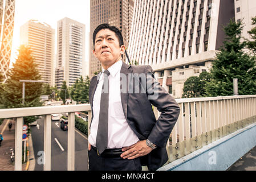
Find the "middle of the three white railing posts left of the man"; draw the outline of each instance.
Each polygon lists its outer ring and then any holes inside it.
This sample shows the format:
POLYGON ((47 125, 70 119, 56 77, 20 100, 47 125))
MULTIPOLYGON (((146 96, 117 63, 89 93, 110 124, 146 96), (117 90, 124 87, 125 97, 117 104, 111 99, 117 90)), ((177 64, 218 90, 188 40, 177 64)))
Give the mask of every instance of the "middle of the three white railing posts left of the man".
POLYGON ((51 114, 44 115, 44 171, 51 171, 51 114))

